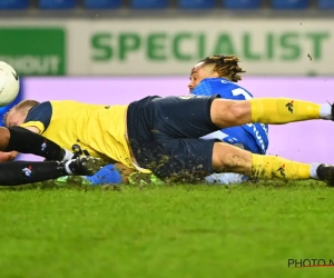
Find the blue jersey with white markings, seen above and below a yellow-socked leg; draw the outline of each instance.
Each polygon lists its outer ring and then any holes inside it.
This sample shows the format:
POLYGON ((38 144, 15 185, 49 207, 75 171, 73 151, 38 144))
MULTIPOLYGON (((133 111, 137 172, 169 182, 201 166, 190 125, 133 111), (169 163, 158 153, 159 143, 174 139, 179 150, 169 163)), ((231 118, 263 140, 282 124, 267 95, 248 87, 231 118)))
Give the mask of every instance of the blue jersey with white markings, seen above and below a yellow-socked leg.
MULTIPOLYGON (((196 96, 218 95, 223 99, 248 100, 253 95, 238 85, 225 78, 207 78, 191 92, 196 96)), ((222 129, 203 137, 203 139, 219 139, 222 141, 243 145, 253 153, 265 155, 268 148, 268 126, 263 123, 247 123, 244 126, 222 129)))

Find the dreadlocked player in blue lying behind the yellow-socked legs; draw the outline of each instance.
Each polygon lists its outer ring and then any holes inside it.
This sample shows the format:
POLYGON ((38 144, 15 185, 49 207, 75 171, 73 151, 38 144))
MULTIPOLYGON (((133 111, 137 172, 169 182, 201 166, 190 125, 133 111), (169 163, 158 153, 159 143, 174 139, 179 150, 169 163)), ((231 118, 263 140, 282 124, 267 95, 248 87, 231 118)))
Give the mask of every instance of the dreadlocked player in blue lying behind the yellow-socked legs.
MULTIPOLYGON (((228 80, 224 72, 224 56, 212 56, 200 60, 190 72, 189 92, 196 96, 219 96, 224 99, 248 100, 253 95, 236 82, 228 80)), ((235 80, 238 81, 238 80, 235 80)), ((218 139, 248 150, 253 153, 265 155, 268 148, 268 126, 247 123, 225 128, 212 132, 202 139, 218 139)), ((216 183, 235 183, 246 177, 237 173, 213 173, 206 181, 216 183)))

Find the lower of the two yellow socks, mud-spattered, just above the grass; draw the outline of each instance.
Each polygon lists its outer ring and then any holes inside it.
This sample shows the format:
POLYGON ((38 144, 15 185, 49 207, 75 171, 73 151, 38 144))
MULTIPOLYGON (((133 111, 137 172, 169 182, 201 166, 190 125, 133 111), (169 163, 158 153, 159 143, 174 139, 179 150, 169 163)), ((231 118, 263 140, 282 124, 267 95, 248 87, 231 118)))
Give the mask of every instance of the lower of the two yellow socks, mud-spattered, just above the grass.
POLYGON ((252 176, 257 178, 310 179, 311 170, 311 165, 295 162, 276 156, 253 155, 252 157, 252 176))

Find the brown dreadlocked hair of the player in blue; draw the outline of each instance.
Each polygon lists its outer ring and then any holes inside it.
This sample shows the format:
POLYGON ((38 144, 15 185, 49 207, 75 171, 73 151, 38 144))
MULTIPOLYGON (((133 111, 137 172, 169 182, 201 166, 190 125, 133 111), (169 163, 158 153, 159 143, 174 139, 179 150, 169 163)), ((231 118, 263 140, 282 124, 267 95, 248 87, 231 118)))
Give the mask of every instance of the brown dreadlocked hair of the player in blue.
POLYGON ((213 64, 214 71, 216 71, 219 77, 226 77, 233 82, 237 82, 242 80, 242 76, 239 73, 244 73, 244 71, 238 62, 240 59, 236 56, 209 56, 205 59, 200 60, 202 67, 213 64))

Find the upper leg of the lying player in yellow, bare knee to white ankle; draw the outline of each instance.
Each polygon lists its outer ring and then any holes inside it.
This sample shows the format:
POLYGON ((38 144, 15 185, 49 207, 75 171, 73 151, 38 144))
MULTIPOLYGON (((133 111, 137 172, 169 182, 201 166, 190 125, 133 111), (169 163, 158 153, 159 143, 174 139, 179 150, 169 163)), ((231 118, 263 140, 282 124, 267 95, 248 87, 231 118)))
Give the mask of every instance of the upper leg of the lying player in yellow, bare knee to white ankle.
POLYGON ((287 123, 313 119, 333 120, 334 109, 330 103, 317 105, 287 98, 258 98, 234 101, 215 99, 210 108, 213 123, 219 128, 249 122, 287 123))

